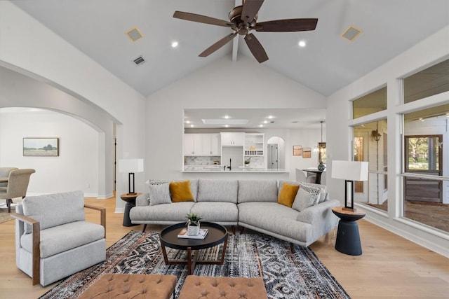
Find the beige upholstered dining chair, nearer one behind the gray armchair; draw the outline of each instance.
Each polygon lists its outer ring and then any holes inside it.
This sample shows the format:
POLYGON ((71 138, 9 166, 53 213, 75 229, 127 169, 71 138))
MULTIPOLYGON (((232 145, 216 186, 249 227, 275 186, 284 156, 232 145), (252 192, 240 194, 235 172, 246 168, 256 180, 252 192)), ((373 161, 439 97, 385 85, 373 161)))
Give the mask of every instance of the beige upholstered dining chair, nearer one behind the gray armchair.
POLYGON ((0 199, 6 200, 8 213, 11 213, 13 198, 24 198, 27 195, 29 176, 34 174, 34 172, 36 172, 34 169, 12 170, 8 176, 8 185, 6 187, 0 187, 0 199))

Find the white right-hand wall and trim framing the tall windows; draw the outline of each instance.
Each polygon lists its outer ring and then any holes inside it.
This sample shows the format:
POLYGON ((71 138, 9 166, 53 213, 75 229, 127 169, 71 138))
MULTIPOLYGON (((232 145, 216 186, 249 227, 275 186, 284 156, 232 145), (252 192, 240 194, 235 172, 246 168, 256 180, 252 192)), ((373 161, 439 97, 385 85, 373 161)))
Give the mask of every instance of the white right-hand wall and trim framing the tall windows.
MULTIPOLYGON (((402 198, 401 113, 420 109, 423 105, 447 104, 449 102, 449 92, 420 102, 412 102, 400 106, 401 82, 399 79, 424 69, 431 64, 448 59, 448 57, 449 27, 445 27, 401 55, 398 55, 393 60, 359 78, 351 85, 335 92, 335 94, 328 97, 326 109, 326 149, 329 168, 331 168, 332 160, 351 160, 350 125, 368 123, 382 118, 388 119, 388 213, 363 206, 363 209, 367 211, 366 219, 444 256, 449 256, 449 237, 447 234, 406 221, 400 216, 402 198), (377 90, 386 84, 387 111, 380 111, 370 116, 351 120, 349 101, 377 90)), ((328 170, 331 171, 332 169, 328 170)), ((343 203, 344 183, 341 180, 330 179, 330 176, 328 176, 327 184, 330 196, 339 199, 343 203)))

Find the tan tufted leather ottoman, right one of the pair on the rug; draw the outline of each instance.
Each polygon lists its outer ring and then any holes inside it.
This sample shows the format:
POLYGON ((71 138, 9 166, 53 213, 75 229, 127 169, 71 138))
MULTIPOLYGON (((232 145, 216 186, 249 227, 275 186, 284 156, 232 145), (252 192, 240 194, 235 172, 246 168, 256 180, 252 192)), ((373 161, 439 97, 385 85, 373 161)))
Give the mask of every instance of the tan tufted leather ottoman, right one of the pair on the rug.
POLYGON ((177 299, 264 299, 264 280, 247 277, 189 275, 177 299))

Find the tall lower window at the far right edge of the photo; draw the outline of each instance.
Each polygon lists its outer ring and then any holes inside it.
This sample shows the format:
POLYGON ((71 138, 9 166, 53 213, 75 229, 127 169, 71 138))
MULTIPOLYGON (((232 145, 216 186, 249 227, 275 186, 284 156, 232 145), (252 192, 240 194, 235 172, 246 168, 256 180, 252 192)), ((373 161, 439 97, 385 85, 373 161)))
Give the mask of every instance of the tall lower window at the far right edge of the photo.
POLYGON ((404 114, 403 218, 449 232, 449 104, 404 114))

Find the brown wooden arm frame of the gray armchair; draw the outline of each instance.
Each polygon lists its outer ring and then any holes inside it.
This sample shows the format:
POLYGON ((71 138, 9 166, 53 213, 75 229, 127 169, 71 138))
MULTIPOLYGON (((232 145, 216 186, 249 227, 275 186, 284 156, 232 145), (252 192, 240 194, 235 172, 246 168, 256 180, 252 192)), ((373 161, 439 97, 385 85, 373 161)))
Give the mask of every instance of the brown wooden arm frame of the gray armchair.
MULTIPOLYGON (((101 207, 95 207, 91 204, 84 204, 84 207, 87 209, 94 209, 100 211, 100 224, 103 228, 105 228, 105 237, 106 237, 106 209, 101 207)), ((29 225, 32 225, 32 234, 33 234, 33 286, 39 284, 40 281, 40 265, 41 265, 41 225, 39 221, 34 220, 33 218, 29 218, 25 215, 20 215, 17 213, 11 213, 11 216, 18 219, 18 221, 22 221, 29 225)))

